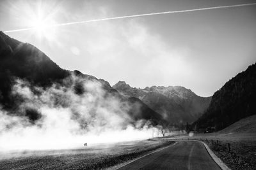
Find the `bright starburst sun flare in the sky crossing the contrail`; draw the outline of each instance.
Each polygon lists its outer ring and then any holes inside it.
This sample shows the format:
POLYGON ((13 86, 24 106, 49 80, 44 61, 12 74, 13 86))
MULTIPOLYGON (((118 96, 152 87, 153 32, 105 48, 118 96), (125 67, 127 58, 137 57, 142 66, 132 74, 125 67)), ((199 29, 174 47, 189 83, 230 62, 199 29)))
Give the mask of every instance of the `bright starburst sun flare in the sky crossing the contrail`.
POLYGON ((33 37, 39 42, 56 43, 57 28, 54 25, 57 24, 56 13, 61 10, 61 6, 42 1, 17 1, 11 5, 13 17, 17 18, 17 24, 21 25, 22 29, 27 30, 28 37, 33 37), (15 6, 19 6, 19 9, 15 6))

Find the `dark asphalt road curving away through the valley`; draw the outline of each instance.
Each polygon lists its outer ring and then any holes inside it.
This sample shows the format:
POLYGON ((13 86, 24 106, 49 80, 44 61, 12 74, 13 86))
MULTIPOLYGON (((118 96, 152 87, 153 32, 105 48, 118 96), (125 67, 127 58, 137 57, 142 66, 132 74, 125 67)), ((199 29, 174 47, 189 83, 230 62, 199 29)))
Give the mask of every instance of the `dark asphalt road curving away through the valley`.
POLYGON ((159 152, 135 160, 119 169, 220 169, 198 141, 177 141, 159 152))

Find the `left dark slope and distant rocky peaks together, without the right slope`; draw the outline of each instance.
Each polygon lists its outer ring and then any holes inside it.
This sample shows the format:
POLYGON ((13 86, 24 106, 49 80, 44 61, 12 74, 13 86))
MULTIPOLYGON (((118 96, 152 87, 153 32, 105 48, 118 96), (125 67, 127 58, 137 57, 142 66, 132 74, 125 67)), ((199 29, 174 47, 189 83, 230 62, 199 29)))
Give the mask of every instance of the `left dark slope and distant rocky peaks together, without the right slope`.
MULTIPOLYGON (((0 33, 0 103, 5 110, 17 112, 22 99, 13 96, 12 87, 15 78, 29 81, 33 86, 50 87, 53 83, 60 83, 74 74, 86 81, 99 82, 108 94, 117 96, 133 106, 127 111, 134 120, 150 120, 154 124, 183 124, 193 122, 202 115, 211 97, 196 96, 184 87, 147 87, 145 89, 131 88, 124 81, 119 81, 111 87, 108 81, 83 74, 80 71, 61 69, 45 53, 28 43, 22 43, 0 33), (149 107, 148 107, 149 106, 149 107), (136 108, 136 110, 135 110, 136 108)), ((83 87, 76 83, 76 94, 84 92, 83 87)), ((28 111, 29 118, 40 118, 28 111), (31 115, 32 114, 32 115, 31 115)))

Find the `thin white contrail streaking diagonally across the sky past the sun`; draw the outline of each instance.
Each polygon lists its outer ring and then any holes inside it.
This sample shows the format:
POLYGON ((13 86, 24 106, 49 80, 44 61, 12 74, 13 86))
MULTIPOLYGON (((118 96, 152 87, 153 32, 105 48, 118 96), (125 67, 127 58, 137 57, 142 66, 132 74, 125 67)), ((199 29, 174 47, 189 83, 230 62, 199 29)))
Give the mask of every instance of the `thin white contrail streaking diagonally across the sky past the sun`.
MULTIPOLYGON (((235 8, 239 6, 251 6, 255 5, 256 3, 250 3, 250 4, 235 4, 235 5, 227 5, 227 6, 213 6, 209 8, 197 8, 197 9, 191 9, 191 10, 179 10, 179 11, 164 11, 164 12, 157 12, 157 13, 144 13, 144 14, 138 14, 138 15, 127 15, 122 17, 111 17, 111 18, 101 18, 101 19, 95 19, 95 20, 83 20, 78 22, 67 22, 62 24, 54 24, 54 25, 47 25, 46 27, 58 27, 58 26, 64 26, 64 25, 74 25, 74 24, 84 24, 88 22, 98 22, 98 21, 104 21, 104 20, 116 20, 116 19, 122 19, 122 18, 134 18, 134 17, 144 17, 149 15, 163 15, 168 13, 185 13, 185 12, 191 12, 191 11, 204 11, 204 10, 214 10, 214 9, 220 9, 220 8, 235 8)), ((8 32, 19 32, 19 31, 28 31, 31 29, 35 29, 35 27, 28 27, 25 29, 15 29, 10 31, 4 31, 4 33, 8 32)))

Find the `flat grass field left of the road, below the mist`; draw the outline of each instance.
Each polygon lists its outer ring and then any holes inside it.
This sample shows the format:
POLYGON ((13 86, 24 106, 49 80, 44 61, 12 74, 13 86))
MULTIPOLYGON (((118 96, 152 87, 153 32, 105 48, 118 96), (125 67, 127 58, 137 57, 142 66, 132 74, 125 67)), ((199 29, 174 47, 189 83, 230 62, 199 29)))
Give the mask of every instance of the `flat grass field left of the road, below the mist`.
POLYGON ((172 143, 147 140, 70 150, 0 152, 0 169, 105 169, 172 143))

